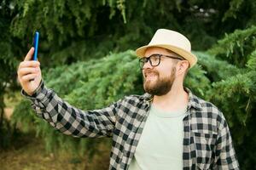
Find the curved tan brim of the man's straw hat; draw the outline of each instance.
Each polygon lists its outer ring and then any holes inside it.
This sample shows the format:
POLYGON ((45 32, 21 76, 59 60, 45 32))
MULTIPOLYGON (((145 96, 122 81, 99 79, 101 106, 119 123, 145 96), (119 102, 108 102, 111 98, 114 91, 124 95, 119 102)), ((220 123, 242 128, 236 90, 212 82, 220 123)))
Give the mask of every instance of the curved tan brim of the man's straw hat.
POLYGON ((188 51, 183 50, 182 48, 178 48, 172 45, 166 45, 166 44, 154 44, 154 45, 146 45, 141 48, 137 48, 136 54, 138 57, 142 58, 145 56, 145 52, 147 48, 151 47, 157 47, 157 48, 166 48, 171 50, 172 52, 179 54, 184 59, 187 59, 189 61, 189 68, 192 68, 195 63, 197 62, 197 58, 194 54, 189 53, 188 51))

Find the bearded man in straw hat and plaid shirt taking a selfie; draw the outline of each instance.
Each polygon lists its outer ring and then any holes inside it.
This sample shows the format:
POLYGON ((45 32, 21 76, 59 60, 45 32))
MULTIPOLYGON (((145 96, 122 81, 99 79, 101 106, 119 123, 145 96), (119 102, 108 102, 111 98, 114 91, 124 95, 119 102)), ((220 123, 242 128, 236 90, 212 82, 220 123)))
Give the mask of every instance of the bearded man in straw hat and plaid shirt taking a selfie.
POLYGON ((61 133, 112 137, 109 169, 239 169, 223 114, 183 88, 187 71, 197 61, 189 40, 160 29, 136 52, 147 92, 142 96, 81 111, 45 87, 39 62, 30 60, 33 48, 18 69, 22 94, 61 133))

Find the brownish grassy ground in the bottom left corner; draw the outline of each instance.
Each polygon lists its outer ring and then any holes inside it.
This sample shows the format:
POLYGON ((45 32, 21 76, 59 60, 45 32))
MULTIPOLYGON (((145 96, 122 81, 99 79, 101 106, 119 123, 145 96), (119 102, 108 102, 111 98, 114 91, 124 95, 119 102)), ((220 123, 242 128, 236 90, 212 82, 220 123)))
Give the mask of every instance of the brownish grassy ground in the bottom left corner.
POLYGON ((41 139, 34 135, 22 136, 12 148, 0 151, 2 170, 85 170, 83 157, 68 153, 46 153, 41 139))

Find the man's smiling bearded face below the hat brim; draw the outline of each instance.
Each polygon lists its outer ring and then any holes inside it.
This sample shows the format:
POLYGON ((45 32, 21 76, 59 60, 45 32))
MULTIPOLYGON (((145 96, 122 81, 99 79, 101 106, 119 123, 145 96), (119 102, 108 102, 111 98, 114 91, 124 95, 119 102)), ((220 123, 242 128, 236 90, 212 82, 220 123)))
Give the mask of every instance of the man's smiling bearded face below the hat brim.
MULTIPOLYGON (((165 48, 148 48, 145 57, 152 54, 174 55, 165 48)), ((165 95, 171 88, 175 80, 177 59, 170 59, 165 56, 160 58, 160 65, 152 66, 149 61, 143 66, 143 87, 148 94, 165 95)))

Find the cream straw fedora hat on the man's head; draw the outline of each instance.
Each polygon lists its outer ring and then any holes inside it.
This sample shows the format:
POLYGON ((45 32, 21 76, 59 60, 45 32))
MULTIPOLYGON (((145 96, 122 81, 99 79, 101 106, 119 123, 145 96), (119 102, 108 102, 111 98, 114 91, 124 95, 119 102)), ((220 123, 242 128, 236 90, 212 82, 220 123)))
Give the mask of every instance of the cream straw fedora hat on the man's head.
POLYGON ((149 47, 166 48, 176 54, 179 54, 189 61, 189 68, 193 67, 197 61, 196 56, 191 53, 191 44, 189 39, 177 31, 167 29, 157 30, 148 45, 137 48, 137 56, 144 57, 145 51, 149 47))

